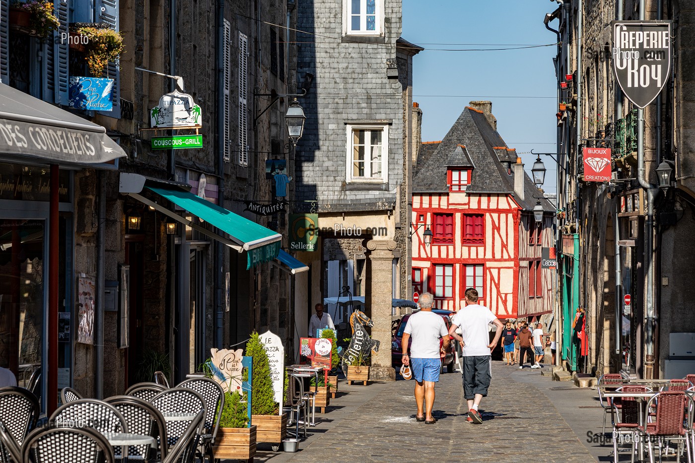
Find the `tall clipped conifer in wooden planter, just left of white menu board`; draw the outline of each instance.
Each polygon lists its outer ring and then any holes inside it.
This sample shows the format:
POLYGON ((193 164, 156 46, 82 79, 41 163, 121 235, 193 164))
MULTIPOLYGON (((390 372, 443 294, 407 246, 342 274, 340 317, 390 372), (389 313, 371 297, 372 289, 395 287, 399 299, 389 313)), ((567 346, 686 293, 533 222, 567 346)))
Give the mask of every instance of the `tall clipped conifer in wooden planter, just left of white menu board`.
POLYGON ((261 337, 256 332, 251 334, 251 339, 246 343, 246 355, 254 359, 251 413, 252 422, 256 425, 256 440, 270 443, 273 451, 277 451, 287 436, 287 414, 279 414, 279 405, 275 402, 272 388, 268 355, 261 343, 261 337))

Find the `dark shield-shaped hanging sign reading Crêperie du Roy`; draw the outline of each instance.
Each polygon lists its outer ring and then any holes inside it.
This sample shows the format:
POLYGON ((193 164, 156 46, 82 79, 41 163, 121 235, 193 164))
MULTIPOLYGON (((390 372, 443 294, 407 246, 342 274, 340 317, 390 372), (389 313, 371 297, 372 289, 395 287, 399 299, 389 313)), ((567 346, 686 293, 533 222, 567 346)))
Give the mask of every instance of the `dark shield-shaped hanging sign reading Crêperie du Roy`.
POLYGON ((613 21, 613 72, 638 108, 659 95, 671 74, 671 21, 613 21))

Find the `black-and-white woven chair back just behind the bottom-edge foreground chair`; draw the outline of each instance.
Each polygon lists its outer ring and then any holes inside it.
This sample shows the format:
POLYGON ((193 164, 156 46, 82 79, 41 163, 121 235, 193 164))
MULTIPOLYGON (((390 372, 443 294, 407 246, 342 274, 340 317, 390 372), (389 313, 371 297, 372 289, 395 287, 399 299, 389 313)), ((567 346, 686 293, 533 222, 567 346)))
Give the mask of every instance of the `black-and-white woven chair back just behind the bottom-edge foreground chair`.
POLYGON ((96 399, 78 399, 61 405, 49 423, 57 426, 85 426, 99 432, 129 432, 126 419, 113 405, 96 399))

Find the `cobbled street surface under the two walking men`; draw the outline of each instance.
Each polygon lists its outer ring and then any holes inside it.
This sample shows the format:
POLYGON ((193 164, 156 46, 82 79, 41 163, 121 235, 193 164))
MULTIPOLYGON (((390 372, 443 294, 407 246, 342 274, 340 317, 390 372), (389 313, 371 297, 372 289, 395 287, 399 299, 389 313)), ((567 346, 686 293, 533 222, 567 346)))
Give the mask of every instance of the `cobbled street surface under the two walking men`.
POLYGON ((607 461, 610 454, 610 448, 586 442, 587 431, 600 432, 603 420, 592 402, 594 391, 552 382, 528 367, 520 371, 493 362, 481 425, 465 422, 460 373, 441 375, 434 425, 415 421, 413 381, 340 387, 349 393, 332 401, 332 411, 310 428, 313 436, 300 444, 299 453, 259 451, 256 461, 589 463, 607 461))

